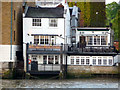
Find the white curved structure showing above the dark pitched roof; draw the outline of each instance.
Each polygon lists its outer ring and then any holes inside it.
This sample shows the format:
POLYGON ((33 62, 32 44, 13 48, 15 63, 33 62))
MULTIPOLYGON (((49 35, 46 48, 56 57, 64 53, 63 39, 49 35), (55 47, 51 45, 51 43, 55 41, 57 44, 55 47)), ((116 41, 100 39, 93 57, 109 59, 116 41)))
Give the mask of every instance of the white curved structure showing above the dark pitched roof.
POLYGON ((57 7, 64 0, 36 0, 36 6, 38 7, 57 7))

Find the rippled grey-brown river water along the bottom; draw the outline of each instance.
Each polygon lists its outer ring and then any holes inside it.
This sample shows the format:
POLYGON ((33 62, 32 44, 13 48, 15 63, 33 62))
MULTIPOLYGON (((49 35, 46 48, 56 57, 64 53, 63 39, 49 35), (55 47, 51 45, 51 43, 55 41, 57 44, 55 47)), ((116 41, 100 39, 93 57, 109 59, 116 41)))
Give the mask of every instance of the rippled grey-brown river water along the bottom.
POLYGON ((118 88, 117 78, 1 80, 2 88, 118 88))

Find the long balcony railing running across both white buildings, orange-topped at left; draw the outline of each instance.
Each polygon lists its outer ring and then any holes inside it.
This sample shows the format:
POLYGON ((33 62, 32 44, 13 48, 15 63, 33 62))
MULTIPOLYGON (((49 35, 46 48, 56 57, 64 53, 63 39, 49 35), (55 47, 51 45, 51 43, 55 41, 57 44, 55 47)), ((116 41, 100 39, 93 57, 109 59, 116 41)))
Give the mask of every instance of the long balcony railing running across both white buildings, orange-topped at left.
POLYGON ((116 52, 114 47, 110 46, 86 46, 84 48, 77 47, 77 45, 28 45, 29 51, 43 51, 43 52, 101 52, 112 53, 116 52))

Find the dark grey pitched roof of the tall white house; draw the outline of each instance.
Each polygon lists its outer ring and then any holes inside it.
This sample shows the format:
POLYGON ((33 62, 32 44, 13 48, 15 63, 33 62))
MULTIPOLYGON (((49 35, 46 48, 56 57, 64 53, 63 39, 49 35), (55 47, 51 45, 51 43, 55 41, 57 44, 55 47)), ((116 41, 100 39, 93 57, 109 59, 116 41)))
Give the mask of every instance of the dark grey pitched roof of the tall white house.
POLYGON ((63 18, 64 8, 28 7, 25 17, 29 18, 63 18))

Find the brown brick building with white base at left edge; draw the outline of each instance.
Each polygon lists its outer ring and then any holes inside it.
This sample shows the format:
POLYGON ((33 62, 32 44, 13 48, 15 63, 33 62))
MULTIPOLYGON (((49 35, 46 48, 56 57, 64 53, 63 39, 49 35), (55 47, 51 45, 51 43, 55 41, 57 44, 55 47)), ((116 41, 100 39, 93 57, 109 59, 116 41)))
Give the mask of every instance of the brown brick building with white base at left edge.
POLYGON ((0 63, 9 68, 22 58, 22 2, 0 2, 0 63))

